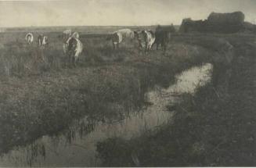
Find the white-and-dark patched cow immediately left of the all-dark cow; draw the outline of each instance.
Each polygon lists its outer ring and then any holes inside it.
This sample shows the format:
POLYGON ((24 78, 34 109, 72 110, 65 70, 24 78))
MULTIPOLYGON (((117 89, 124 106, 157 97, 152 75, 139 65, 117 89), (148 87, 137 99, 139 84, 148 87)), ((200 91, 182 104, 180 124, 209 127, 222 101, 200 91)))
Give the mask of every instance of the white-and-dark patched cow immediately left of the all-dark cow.
POLYGON ((154 41, 156 40, 155 34, 152 30, 142 30, 142 31, 134 31, 135 38, 139 42, 139 48, 145 48, 146 54, 148 54, 153 46, 154 41))

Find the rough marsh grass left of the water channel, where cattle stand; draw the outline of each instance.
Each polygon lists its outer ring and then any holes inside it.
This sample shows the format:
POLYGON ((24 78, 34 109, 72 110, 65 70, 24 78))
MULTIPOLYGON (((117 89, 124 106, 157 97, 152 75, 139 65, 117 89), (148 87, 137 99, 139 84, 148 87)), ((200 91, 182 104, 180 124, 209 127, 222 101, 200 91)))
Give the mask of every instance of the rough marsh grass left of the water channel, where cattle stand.
POLYGON ((168 87, 175 73, 198 65, 209 53, 195 45, 171 44, 165 55, 143 55, 134 44, 114 51, 103 36, 81 38, 77 67, 65 64, 59 34, 49 48, 27 45, 23 33, 1 34, 0 151, 58 134, 74 120, 121 120, 146 102, 155 84, 168 87))

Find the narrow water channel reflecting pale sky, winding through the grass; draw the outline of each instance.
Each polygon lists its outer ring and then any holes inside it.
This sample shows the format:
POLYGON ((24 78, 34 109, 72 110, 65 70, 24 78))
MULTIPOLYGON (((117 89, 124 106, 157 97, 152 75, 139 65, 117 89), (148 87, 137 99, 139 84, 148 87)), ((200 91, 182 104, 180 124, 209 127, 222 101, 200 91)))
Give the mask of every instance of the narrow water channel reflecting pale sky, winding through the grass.
POLYGON ((131 113, 124 120, 95 123, 85 118, 75 121, 65 134, 43 136, 31 145, 16 147, 2 155, 0 166, 99 166, 100 160, 96 157, 98 141, 113 137, 135 138, 168 123, 173 113, 166 106, 178 102, 177 95, 193 93, 211 80, 211 69, 211 64, 194 67, 179 74, 176 84, 169 88, 156 86, 146 93, 151 105, 131 113))

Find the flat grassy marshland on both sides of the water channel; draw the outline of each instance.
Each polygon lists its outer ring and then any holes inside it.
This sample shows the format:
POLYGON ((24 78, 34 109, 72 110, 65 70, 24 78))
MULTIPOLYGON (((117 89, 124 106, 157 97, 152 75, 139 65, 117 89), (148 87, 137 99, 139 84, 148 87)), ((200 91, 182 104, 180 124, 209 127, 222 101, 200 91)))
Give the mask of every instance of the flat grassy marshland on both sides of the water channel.
POLYGON ((182 97, 175 123, 129 141, 99 143, 102 166, 138 166, 135 160, 139 166, 255 166, 254 34, 173 34, 167 52, 153 48, 145 55, 135 41, 113 50, 106 34, 121 27, 70 27, 81 35, 84 50, 78 66, 69 67, 62 52, 66 28, 17 28, 0 34, 2 155, 43 135, 60 134, 85 116, 101 122, 124 120, 150 105, 146 92, 155 86, 168 88, 175 74, 211 63, 211 83, 182 97), (49 36, 49 48, 27 45, 27 32, 34 38, 49 36), (173 137, 178 141, 169 141, 173 137), (127 152, 115 155, 115 150, 127 152), (134 151, 137 159, 131 157, 134 151))

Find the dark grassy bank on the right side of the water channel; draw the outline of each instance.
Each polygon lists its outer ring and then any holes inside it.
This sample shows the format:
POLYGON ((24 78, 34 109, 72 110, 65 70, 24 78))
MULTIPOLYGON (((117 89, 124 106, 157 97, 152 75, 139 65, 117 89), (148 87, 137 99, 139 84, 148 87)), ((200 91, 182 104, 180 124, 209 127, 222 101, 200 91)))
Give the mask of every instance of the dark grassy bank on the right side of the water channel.
MULTIPOLYGON (((251 38, 225 39, 234 48, 226 50, 219 39, 213 45, 220 48, 208 59, 213 64, 211 83, 195 95, 182 95, 173 122, 160 130, 132 140, 100 142, 103 166, 255 166, 256 48, 251 38)), ((195 38, 193 43, 205 46, 195 38)))

